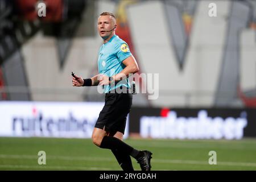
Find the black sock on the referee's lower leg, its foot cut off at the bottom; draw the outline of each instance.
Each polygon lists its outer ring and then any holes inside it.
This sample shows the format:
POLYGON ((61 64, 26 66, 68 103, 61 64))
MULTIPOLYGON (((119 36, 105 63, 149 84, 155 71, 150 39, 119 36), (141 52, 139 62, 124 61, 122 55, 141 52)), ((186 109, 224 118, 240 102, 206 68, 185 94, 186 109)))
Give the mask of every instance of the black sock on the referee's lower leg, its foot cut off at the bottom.
POLYGON ((134 171, 133 163, 131 163, 131 158, 129 155, 125 155, 118 150, 111 150, 117 159, 118 164, 121 166, 123 171, 134 171))

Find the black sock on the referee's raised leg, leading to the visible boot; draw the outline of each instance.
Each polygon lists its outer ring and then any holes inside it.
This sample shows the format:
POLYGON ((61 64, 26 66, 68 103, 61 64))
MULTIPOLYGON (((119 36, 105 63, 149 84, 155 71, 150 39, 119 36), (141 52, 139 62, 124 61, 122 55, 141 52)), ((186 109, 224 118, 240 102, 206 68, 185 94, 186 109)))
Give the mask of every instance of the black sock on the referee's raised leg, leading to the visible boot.
POLYGON ((135 159, 138 159, 138 155, 141 153, 140 151, 136 150, 135 148, 129 146, 122 140, 119 140, 115 137, 105 136, 101 141, 101 148, 108 148, 110 150, 118 150, 123 154, 130 155, 135 159))

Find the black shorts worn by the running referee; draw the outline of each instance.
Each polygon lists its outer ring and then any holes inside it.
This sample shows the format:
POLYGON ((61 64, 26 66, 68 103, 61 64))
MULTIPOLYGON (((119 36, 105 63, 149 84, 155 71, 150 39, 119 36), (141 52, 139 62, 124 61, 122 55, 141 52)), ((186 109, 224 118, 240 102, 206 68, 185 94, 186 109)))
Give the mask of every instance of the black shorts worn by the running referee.
POLYGON ((125 134, 127 114, 133 102, 131 93, 106 93, 105 105, 94 127, 109 133, 117 131, 125 134))

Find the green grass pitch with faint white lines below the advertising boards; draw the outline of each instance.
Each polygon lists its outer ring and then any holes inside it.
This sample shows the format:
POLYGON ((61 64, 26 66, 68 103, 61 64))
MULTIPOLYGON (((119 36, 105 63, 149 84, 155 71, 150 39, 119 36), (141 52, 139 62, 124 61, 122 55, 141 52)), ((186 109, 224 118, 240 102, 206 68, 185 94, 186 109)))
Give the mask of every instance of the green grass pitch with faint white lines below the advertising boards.
MULTIPOLYGON (((139 150, 152 151, 152 170, 256 170, 256 139, 171 140, 126 139, 139 150), (217 164, 210 165, 209 151, 217 164)), ((132 159, 134 169, 139 164, 132 159)), ((0 170, 121 170, 110 150, 90 139, 0 138, 0 170), (46 165, 38 152, 46 152, 46 165)))

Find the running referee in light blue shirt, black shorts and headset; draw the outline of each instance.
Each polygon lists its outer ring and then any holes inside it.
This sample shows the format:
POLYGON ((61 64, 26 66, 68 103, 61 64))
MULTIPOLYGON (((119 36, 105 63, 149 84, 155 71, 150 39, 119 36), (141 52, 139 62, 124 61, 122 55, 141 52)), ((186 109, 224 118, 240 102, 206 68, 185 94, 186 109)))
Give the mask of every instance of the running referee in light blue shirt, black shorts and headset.
POLYGON ((150 171, 150 151, 139 151, 122 141, 127 114, 133 96, 129 92, 129 73, 139 71, 138 64, 126 42, 115 35, 115 16, 104 12, 98 18, 98 33, 103 44, 98 53, 98 72, 92 78, 83 79, 73 75, 73 86, 97 86, 104 88, 105 105, 94 126, 92 141, 100 148, 112 150, 124 171, 134 171, 131 158, 137 159, 142 171, 150 171), (120 92, 121 90, 121 92, 120 92))

